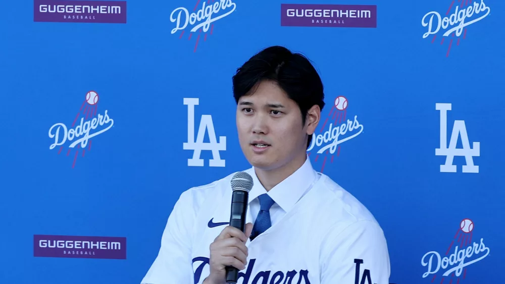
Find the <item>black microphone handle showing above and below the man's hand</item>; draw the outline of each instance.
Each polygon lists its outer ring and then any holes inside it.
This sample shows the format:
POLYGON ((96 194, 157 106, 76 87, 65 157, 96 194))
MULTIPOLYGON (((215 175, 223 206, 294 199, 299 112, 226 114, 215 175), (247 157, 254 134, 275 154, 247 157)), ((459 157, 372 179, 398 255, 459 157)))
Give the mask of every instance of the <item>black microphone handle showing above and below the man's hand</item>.
MULTIPOLYGON (((245 214, 247 213, 247 201, 249 193, 244 190, 234 190, 231 197, 230 226, 245 231, 245 214)), ((244 232, 245 233, 245 232, 244 232)), ((235 284, 238 279, 238 269, 226 266, 226 282, 235 284)))

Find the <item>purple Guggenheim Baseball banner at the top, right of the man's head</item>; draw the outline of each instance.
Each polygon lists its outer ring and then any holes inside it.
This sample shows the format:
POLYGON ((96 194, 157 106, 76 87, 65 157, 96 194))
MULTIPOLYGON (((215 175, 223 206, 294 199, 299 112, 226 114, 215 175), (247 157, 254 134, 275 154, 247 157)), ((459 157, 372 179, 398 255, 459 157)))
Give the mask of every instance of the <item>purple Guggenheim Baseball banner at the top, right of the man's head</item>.
POLYGON ((281 4, 281 26, 376 28, 376 5, 281 4))

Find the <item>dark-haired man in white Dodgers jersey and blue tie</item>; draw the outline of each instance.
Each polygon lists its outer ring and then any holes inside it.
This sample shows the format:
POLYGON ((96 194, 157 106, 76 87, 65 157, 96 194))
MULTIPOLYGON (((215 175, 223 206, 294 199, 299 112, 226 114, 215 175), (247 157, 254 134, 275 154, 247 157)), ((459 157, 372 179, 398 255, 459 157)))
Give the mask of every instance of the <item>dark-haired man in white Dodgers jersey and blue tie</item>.
POLYGON ((373 215, 307 156, 323 84, 302 55, 280 46, 233 76, 241 149, 252 165, 245 233, 228 226, 233 174, 183 192, 158 257, 141 283, 387 284, 389 255, 373 215), (251 237, 252 236, 252 237, 251 237))

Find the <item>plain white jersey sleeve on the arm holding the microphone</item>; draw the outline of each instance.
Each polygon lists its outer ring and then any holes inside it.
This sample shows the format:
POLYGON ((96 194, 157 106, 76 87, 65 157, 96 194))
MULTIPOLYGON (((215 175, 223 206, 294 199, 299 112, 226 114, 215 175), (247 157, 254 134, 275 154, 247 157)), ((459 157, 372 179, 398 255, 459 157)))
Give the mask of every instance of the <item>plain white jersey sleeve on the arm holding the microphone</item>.
POLYGON ((161 247, 141 284, 186 284, 193 282, 191 231, 195 219, 191 192, 181 194, 168 217, 161 247))

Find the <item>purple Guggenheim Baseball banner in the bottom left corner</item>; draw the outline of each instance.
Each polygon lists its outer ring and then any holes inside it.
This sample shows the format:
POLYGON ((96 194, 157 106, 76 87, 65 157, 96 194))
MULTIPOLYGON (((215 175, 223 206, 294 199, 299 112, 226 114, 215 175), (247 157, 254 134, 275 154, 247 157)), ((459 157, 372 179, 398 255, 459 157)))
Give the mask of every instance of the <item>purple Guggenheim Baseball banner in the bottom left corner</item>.
POLYGON ((126 259, 126 238, 33 235, 33 256, 126 259))

